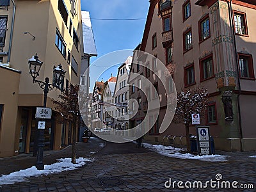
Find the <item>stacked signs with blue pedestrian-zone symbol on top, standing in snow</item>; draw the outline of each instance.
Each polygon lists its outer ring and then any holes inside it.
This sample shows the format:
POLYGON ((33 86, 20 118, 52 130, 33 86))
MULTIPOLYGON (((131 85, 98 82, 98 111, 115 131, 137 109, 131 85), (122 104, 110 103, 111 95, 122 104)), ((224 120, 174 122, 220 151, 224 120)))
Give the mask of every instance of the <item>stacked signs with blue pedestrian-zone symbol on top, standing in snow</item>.
POLYGON ((210 154, 210 134, 209 126, 198 126, 196 127, 197 132, 197 143, 198 143, 198 154, 209 155, 210 154))

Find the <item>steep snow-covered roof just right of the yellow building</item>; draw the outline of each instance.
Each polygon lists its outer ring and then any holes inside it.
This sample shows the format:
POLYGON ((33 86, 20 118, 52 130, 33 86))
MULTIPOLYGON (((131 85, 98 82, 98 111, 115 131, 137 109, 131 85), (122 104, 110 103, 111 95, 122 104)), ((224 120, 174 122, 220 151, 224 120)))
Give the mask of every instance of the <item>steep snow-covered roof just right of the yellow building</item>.
POLYGON ((92 23, 90 19, 90 13, 82 11, 82 25, 83 25, 83 42, 84 42, 84 54, 91 54, 97 56, 97 50, 95 40, 92 31, 92 23))

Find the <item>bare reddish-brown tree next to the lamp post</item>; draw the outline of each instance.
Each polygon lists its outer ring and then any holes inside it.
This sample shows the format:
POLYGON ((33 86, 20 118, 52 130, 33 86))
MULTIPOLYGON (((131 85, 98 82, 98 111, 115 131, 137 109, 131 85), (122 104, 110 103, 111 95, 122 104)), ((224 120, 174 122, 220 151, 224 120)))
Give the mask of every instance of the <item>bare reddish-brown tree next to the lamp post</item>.
POLYGON ((65 92, 58 95, 60 100, 52 100, 55 104, 54 108, 63 115, 63 118, 69 119, 72 123, 72 163, 76 163, 76 130, 81 123, 78 92, 79 85, 71 84, 65 92))

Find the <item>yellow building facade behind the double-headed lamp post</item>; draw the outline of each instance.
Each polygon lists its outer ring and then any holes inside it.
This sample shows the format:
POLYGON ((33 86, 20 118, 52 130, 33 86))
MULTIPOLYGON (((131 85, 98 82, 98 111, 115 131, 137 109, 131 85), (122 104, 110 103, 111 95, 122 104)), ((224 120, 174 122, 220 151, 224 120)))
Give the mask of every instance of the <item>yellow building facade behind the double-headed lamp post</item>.
MULTIPOLYGON (((83 32, 79 0, 10 0, 0 3, 0 157, 36 153, 35 108, 43 106, 44 93, 29 74, 28 59, 37 54, 44 62, 44 81, 59 64, 67 71, 63 88, 79 84, 83 32)), ((52 99, 60 90, 48 93, 51 120, 45 125, 45 150, 58 150, 71 143, 71 127, 54 111, 52 99)))

